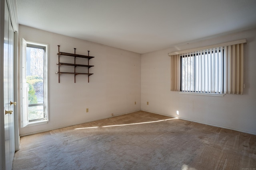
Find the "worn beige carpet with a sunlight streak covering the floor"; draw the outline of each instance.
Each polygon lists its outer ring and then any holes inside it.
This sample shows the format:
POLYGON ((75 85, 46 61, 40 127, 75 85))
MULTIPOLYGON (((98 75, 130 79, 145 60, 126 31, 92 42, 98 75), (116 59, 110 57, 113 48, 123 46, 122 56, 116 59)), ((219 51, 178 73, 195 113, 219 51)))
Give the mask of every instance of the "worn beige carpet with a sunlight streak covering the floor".
POLYGON ((256 135, 144 111, 21 137, 13 161, 13 170, 250 168, 256 135))

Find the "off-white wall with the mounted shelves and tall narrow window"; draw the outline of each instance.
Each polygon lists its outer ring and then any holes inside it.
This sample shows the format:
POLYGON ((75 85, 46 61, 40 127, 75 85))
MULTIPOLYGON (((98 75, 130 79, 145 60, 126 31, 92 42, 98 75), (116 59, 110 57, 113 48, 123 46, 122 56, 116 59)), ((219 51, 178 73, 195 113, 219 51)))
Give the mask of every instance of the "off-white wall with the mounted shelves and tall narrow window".
POLYGON ((24 25, 19 25, 19 41, 21 37, 49 45, 49 122, 20 128, 20 135, 140 110, 140 54, 24 25), (81 55, 90 51, 95 58, 90 59, 90 65, 94 65, 90 73, 94 74, 89 83, 86 75, 76 76, 74 83, 74 75, 67 74, 62 74, 58 83, 57 45, 66 53, 74 53, 74 48, 81 55))

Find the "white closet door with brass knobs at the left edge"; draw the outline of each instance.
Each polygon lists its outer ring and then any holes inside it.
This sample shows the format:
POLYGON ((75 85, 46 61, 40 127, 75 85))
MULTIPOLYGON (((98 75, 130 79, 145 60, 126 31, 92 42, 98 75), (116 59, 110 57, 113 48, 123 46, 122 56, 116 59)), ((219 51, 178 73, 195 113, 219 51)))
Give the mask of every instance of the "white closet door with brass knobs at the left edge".
POLYGON ((10 14, 5 1, 4 10, 4 58, 3 58, 3 88, 4 88, 4 169, 12 169, 15 152, 14 139, 14 31, 10 14))

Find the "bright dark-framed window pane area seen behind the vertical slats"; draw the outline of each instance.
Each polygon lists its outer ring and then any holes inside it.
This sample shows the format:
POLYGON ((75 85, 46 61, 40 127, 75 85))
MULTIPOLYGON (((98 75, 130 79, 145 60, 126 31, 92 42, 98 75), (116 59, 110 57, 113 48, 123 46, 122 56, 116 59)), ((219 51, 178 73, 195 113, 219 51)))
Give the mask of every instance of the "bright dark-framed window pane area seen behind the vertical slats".
POLYGON ((223 94, 223 56, 222 48, 180 55, 180 91, 223 94))

